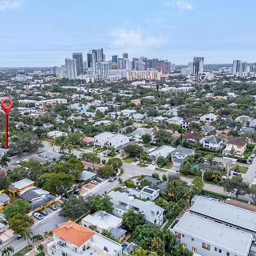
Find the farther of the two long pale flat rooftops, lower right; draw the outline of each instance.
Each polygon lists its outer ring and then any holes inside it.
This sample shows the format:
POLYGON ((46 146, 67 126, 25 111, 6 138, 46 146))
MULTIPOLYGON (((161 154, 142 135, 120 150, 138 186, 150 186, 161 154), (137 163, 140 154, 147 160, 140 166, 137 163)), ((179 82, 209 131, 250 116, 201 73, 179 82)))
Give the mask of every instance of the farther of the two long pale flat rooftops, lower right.
POLYGON ((256 213, 250 210, 200 196, 192 205, 190 211, 228 222, 256 233, 256 213))

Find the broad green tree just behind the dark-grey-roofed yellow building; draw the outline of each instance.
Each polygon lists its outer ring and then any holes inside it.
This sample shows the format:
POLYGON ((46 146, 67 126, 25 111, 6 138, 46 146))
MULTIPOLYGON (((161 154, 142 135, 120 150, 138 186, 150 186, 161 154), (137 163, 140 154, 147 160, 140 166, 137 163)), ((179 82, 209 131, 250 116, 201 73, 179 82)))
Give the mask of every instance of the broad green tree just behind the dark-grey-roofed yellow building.
POLYGON ((44 189, 51 191, 55 195, 62 195, 69 191, 71 186, 75 183, 75 176, 64 174, 64 172, 51 172, 41 175, 39 181, 42 182, 44 189))

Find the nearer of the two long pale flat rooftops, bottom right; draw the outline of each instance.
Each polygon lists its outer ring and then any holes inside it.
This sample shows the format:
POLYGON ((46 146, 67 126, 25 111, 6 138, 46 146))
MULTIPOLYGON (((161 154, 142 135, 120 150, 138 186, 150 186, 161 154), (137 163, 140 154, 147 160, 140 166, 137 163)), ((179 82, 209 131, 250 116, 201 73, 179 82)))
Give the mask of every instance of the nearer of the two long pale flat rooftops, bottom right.
POLYGON ((253 240, 252 234, 218 224, 192 213, 185 213, 173 230, 197 237, 212 246, 222 247, 230 254, 247 255, 253 240))

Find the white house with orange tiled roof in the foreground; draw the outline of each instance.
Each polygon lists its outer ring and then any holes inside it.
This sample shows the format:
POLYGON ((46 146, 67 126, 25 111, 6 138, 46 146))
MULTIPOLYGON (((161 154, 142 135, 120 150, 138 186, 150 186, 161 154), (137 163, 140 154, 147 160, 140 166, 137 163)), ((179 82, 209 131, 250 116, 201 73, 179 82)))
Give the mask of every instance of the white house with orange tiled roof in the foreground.
POLYGON ((67 221, 53 230, 53 241, 47 244, 47 255, 121 256, 122 246, 93 230, 67 221))

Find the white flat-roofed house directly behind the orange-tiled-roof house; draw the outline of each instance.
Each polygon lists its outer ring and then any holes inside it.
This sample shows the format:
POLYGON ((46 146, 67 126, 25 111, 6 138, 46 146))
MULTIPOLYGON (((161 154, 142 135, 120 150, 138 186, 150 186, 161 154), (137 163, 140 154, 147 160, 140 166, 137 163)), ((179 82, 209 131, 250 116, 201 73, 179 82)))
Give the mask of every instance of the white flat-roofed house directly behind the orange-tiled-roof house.
POLYGON ((122 218, 116 217, 112 214, 104 212, 102 210, 93 214, 88 214, 82 218, 82 226, 89 228, 89 226, 96 226, 96 232, 102 233, 102 231, 110 230, 112 227, 119 228, 122 225, 122 218))

